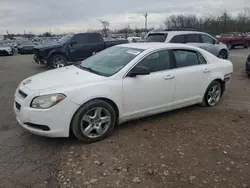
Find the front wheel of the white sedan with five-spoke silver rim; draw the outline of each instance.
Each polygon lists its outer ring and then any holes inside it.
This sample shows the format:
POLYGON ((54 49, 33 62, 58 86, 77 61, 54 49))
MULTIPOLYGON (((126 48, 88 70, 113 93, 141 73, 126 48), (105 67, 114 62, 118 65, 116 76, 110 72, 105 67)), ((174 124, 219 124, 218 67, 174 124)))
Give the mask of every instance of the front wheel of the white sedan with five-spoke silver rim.
POLYGON ((113 107, 103 100, 84 104, 74 115, 71 130, 85 143, 96 142, 110 135, 116 124, 113 107))

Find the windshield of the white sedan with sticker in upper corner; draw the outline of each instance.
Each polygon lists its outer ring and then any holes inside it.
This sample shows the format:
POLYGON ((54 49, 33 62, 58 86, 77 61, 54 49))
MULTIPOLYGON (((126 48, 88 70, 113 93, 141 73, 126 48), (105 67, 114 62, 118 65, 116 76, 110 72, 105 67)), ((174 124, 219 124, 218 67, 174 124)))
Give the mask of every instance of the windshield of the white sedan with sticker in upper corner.
POLYGON ((89 57, 77 66, 102 76, 112 76, 142 51, 143 49, 114 46, 89 57))

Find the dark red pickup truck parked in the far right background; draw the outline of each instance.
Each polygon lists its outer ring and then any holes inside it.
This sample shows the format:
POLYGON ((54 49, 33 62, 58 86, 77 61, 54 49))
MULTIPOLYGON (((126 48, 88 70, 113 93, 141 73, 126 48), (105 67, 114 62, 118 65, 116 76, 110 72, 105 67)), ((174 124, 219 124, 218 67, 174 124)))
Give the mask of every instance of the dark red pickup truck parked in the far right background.
POLYGON ((236 46, 248 48, 250 43, 250 38, 248 36, 244 36, 241 33, 222 35, 220 38, 217 38, 217 40, 226 44, 229 50, 236 46))

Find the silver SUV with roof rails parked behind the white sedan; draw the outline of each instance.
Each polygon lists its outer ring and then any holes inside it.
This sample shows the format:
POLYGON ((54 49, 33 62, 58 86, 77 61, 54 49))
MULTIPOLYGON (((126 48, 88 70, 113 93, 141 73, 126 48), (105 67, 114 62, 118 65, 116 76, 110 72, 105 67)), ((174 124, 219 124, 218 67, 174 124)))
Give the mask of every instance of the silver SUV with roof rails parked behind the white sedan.
POLYGON ((146 42, 182 43, 200 47, 215 56, 227 59, 229 50, 223 43, 219 43, 207 33, 194 29, 166 29, 164 31, 151 31, 148 33, 146 42))

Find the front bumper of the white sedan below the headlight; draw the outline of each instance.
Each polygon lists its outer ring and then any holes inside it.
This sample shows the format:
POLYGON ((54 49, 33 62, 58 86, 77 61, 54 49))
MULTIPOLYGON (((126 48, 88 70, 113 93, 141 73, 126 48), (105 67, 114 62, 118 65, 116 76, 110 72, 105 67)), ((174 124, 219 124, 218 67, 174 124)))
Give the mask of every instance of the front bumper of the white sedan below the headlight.
POLYGON ((38 92, 28 90, 25 87, 18 87, 13 106, 18 123, 24 129, 36 135, 68 137, 71 118, 79 105, 65 98, 62 102, 49 109, 31 108, 30 103, 38 94, 38 92), (25 93, 27 97, 21 96, 19 90, 25 93))

